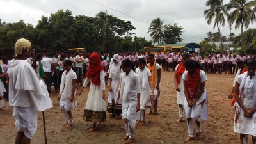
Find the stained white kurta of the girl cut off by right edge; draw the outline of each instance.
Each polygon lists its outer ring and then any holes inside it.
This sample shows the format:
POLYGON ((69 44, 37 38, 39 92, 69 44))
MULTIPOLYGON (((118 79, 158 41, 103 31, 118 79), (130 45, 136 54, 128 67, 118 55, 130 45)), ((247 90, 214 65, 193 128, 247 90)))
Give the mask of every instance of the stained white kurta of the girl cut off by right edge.
MULTIPOLYGON (((255 108, 255 106, 253 106, 253 100, 255 100, 255 98, 253 99, 253 97, 256 97, 255 96, 256 77, 253 76, 252 79, 250 79, 250 76, 248 76, 248 72, 245 72, 244 74, 237 76, 236 81, 239 84, 244 83, 244 90, 242 93, 243 98, 241 97, 241 100, 244 106, 246 108, 255 108)), ((246 118, 244 117, 243 109, 241 109, 240 106, 237 107, 236 115, 234 118, 234 132, 256 136, 255 122, 256 122, 256 113, 254 113, 251 118, 246 118)))

